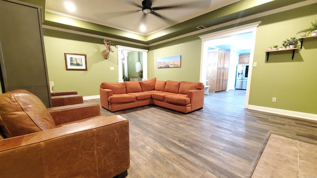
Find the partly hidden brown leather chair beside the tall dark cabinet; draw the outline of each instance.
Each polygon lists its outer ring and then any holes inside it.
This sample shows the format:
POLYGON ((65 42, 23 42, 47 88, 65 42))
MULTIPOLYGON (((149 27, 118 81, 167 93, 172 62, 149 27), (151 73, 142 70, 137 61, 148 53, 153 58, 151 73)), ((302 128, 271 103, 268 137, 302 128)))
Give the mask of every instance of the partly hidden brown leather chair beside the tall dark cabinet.
POLYGON ((51 99, 52 107, 80 104, 84 102, 83 96, 73 90, 51 92, 51 99))

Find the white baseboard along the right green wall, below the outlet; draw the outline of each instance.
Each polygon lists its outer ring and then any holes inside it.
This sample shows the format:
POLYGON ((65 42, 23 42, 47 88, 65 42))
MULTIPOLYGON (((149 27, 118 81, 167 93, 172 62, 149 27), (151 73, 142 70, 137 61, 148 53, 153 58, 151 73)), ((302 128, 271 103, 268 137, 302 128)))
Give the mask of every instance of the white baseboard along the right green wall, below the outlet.
POLYGON ((269 108, 269 107, 256 106, 256 105, 248 105, 248 107, 246 107, 246 108, 252 109, 252 110, 257 110, 257 111, 263 111, 263 112, 269 112, 269 113, 274 113, 274 114, 281 114, 281 115, 285 115, 285 116, 298 117, 298 118, 317 121, 317 114, 303 113, 303 112, 290 111, 290 110, 284 110, 284 109, 269 108))

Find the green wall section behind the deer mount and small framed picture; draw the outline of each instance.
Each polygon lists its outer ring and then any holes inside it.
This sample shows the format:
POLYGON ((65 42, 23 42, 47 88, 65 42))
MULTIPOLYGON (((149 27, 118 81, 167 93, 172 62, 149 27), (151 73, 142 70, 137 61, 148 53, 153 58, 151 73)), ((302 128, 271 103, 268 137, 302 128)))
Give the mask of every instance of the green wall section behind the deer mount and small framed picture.
MULTIPOLYGON (((102 41, 102 39, 101 39, 102 41)), ((49 80, 53 91, 77 90, 83 96, 98 95, 101 82, 117 82, 117 50, 104 59, 105 45, 56 37, 44 37, 49 80), (87 55, 87 71, 66 71, 64 52, 87 55), (110 70, 114 67, 114 70, 110 70)))

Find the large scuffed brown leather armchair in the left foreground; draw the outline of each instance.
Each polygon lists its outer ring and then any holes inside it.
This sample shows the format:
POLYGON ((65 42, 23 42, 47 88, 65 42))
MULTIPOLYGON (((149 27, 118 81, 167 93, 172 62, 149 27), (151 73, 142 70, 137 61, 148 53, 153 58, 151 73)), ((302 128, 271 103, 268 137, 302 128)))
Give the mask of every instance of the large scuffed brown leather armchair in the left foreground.
POLYGON ((95 103, 46 108, 26 90, 0 94, 0 178, 112 178, 130 165, 129 123, 95 103))

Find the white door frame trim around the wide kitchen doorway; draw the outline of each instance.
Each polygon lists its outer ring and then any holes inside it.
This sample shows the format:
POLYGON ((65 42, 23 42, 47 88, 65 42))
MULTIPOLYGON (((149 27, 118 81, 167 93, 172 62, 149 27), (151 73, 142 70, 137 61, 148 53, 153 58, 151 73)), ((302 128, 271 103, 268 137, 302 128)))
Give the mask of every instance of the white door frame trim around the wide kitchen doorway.
POLYGON ((202 53, 201 53, 201 61, 200 61, 200 82, 204 83, 206 85, 206 77, 207 77, 207 60, 208 60, 208 46, 205 45, 207 41, 224 38, 232 35, 238 35, 243 33, 252 32, 252 44, 251 44, 251 50, 250 50, 250 61, 249 61, 249 74, 248 74, 248 82, 247 82, 247 89, 246 89, 246 100, 244 104, 244 108, 248 108, 249 105, 249 96, 250 96, 250 86, 251 86, 251 78, 252 78, 252 68, 253 65, 253 56, 254 56, 254 48, 255 48, 255 42, 256 42, 256 33, 257 33, 257 27, 261 21, 233 27, 226 30, 221 30, 217 32, 213 32, 210 34, 199 36, 202 40, 202 53))

